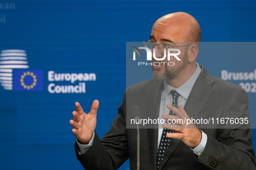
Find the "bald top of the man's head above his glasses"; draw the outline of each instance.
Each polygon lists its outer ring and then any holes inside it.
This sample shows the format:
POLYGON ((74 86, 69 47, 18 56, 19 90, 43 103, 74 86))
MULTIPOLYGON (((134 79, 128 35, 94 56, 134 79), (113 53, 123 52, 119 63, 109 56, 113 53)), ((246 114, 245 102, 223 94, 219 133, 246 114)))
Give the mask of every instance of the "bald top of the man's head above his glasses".
POLYGON ((198 22, 193 16, 184 12, 170 13, 162 16, 153 25, 153 31, 167 34, 173 38, 172 41, 176 42, 201 41, 201 29, 198 22))

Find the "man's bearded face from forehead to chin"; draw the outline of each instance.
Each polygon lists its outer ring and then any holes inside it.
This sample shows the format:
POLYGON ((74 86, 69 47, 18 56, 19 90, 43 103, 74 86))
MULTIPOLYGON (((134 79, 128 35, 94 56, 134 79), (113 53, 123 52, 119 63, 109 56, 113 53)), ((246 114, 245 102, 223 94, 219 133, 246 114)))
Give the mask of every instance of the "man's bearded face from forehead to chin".
MULTIPOLYGON (((161 42, 165 42, 166 44, 169 44, 170 46, 180 46, 180 45, 186 45, 185 44, 185 35, 187 34, 186 30, 184 28, 179 28, 177 25, 166 25, 163 23, 156 22, 153 25, 152 32, 151 32, 151 41, 157 42, 157 44, 161 42), (177 43, 178 42, 178 43, 177 43), (181 43, 184 42, 184 43, 181 43)), ((179 73, 185 68, 185 66, 188 63, 188 47, 173 47, 181 50, 181 54, 178 55, 178 57, 181 59, 181 61, 178 61, 175 57, 171 56, 170 60, 167 60, 167 54, 165 60, 162 61, 156 61, 152 57, 152 63, 155 62, 173 62, 175 63, 174 66, 168 66, 168 64, 163 63, 160 66, 154 66, 152 65, 152 71, 153 75, 160 80, 169 81, 172 79, 175 79, 177 76, 179 76, 179 73)), ((159 50, 157 48, 157 45, 155 46, 156 49, 156 57, 162 58, 163 55, 159 53, 159 50)), ((167 51, 167 49, 166 49, 167 51)), ((177 51, 173 51, 173 53, 177 53, 177 51)), ((153 54, 153 53, 152 53, 153 54)))

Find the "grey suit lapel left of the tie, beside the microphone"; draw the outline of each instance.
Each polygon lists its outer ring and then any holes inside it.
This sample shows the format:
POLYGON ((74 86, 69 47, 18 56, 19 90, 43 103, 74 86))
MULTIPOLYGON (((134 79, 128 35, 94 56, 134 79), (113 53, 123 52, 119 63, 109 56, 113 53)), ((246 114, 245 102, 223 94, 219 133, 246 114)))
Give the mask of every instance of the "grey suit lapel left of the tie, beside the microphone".
MULTIPOLYGON (((152 85, 148 86, 146 100, 147 100, 147 113, 151 119, 157 119, 159 117, 159 107, 161 102, 163 89, 163 82, 156 81, 152 85)), ((157 157, 157 141, 158 141, 158 124, 155 127, 147 129, 148 132, 148 144, 149 154, 152 163, 152 169, 157 169, 156 157, 157 157)))

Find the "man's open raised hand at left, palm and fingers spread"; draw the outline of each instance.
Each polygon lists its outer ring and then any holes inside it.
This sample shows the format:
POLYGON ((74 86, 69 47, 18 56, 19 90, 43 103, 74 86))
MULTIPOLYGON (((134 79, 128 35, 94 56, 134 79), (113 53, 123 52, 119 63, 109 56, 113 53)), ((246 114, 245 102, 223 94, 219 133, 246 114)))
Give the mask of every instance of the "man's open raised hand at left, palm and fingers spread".
POLYGON ((81 105, 78 102, 75 103, 74 120, 70 120, 69 123, 73 126, 72 132, 81 144, 88 144, 92 138, 97 122, 98 107, 99 101, 93 101, 91 111, 86 114, 81 105))

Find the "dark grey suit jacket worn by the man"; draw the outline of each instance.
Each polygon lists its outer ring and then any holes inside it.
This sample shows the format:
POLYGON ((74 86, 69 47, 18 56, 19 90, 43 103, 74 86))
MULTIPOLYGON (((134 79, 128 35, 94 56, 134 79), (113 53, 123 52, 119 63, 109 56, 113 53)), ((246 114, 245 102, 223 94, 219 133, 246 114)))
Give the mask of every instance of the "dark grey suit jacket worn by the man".
MULTIPOLYGON (((237 85, 211 76, 203 66, 185 104, 185 111, 193 118, 204 114, 219 117, 249 115, 247 93, 237 85)), ((163 82, 150 79, 126 89, 123 103, 110 131, 94 143, 85 154, 75 153, 87 170, 113 170, 130 158, 130 169, 136 169, 136 129, 126 129, 126 100, 140 106, 146 113, 159 116, 163 82), (146 98, 145 98, 146 96, 146 98)), ((190 147, 172 139, 160 170, 255 170, 255 154, 251 129, 201 129, 207 143, 200 158, 190 147)), ((140 169, 157 169, 158 129, 140 129, 140 169)))

